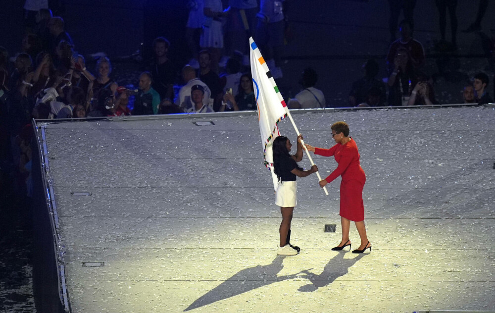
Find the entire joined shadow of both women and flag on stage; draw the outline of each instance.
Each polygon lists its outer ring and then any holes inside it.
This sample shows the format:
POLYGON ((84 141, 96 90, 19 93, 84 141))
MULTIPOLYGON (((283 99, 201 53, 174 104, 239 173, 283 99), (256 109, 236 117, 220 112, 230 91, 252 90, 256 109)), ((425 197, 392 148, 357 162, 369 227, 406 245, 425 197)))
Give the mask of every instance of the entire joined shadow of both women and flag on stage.
POLYGON ((259 287, 267 286, 279 281, 294 279, 296 277, 305 278, 309 281, 308 284, 299 287, 299 291, 316 291, 318 288, 331 284, 338 277, 347 274, 349 267, 354 265, 364 256, 364 254, 359 254, 352 259, 344 259, 345 254, 346 253, 344 252, 337 254, 337 256, 328 261, 323 268, 323 271, 318 275, 310 272, 312 268, 309 268, 301 270, 296 274, 285 276, 277 276, 284 268, 282 262, 285 259, 285 256, 277 256, 268 265, 248 267, 236 273, 234 276, 201 296, 184 310, 184 312, 212 304, 219 300, 234 297, 259 287))

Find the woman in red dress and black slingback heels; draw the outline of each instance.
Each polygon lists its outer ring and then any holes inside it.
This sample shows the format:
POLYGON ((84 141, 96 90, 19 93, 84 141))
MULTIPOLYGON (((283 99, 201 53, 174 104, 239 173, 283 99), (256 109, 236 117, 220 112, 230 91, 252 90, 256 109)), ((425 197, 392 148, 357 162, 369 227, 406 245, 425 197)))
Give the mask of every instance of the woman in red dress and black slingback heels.
POLYGON ((312 151, 316 155, 324 157, 335 156, 335 160, 339 163, 339 166, 326 179, 320 181, 320 187, 323 188, 326 184, 342 175, 340 186, 342 241, 332 250, 342 250, 347 246, 349 246, 350 250, 349 227, 350 221, 354 221, 359 237, 361 237, 361 245, 352 252, 363 253, 368 248, 371 252, 371 244, 366 236, 366 227, 364 226, 363 187, 366 182, 366 175, 361 165, 359 165, 357 145, 349 137, 349 126, 346 122, 336 122, 330 128, 332 138, 336 143, 335 146, 330 149, 315 148, 310 145, 305 146, 308 151, 312 151))

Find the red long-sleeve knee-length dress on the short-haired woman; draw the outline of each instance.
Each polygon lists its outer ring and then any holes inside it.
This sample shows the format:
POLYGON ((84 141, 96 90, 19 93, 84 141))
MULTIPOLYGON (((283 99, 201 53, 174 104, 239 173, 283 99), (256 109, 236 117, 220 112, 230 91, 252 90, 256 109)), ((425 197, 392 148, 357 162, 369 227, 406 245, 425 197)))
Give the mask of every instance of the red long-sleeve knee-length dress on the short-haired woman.
POLYGON ((351 221, 364 220, 363 187, 366 182, 356 142, 351 138, 346 144, 337 144, 330 149, 315 148, 315 154, 323 157, 335 156, 339 166, 326 178, 331 182, 342 175, 340 215, 351 221))

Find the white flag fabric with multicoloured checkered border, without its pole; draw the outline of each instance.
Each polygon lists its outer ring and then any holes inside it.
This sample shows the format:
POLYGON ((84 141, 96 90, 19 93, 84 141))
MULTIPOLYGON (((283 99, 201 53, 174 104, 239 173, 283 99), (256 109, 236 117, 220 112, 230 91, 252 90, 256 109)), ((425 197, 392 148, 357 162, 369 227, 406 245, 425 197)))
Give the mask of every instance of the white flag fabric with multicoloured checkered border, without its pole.
POLYGON ((280 135, 277 124, 287 116, 289 109, 252 37, 249 38, 249 46, 251 75, 254 86, 254 97, 256 99, 256 106, 258 107, 259 131, 263 144, 264 163, 272 174, 273 188, 276 191, 278 179, 277 175, 273 172, 272 144, 273 140, 280 135))

